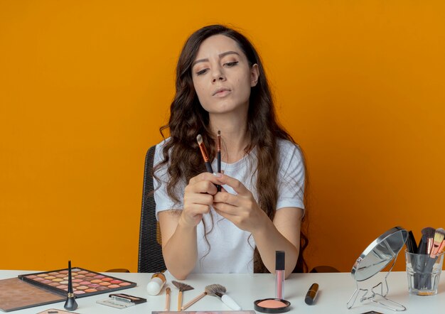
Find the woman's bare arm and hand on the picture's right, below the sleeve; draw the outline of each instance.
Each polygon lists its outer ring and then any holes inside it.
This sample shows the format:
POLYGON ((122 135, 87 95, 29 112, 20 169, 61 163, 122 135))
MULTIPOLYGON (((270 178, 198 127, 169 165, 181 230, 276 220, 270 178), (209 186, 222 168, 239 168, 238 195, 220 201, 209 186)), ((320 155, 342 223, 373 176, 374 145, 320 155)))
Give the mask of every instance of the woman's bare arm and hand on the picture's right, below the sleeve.
POLYGON ((277 210, 272 222, 240 181, 220 175, 220 182, 233 188, 237 195, 225 191, 217 193, 213 203, 215 210, 240 229, 252 233, 262 261, 272 274, 275 272, 275 251, 286 251, 286 276, 289 276, 299 256, 303 210, 282 208, 277 210))

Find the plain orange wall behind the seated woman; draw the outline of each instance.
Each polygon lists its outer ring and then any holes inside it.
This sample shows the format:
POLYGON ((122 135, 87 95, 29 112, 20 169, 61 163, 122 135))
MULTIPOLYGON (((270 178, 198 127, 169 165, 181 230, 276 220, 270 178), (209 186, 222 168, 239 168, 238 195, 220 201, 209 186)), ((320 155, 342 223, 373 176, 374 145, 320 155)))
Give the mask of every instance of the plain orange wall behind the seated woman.
POLYGON ((304 148, 310 266, 445 227, 444 1, 152 2, 0 2, 0 269, 136 271, 144 154, 210 23, 252 39, 304 148))

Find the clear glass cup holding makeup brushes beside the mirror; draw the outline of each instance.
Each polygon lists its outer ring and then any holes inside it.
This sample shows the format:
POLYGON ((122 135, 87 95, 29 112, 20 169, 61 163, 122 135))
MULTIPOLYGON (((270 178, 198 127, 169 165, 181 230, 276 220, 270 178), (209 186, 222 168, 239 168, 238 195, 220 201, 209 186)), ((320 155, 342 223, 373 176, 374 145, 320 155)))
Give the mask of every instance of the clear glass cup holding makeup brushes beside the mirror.
POLYGON ((405 251, 409 293, 417 296, 437 294, 439 278, 444 265, 444 252, 436 256, 405 251))

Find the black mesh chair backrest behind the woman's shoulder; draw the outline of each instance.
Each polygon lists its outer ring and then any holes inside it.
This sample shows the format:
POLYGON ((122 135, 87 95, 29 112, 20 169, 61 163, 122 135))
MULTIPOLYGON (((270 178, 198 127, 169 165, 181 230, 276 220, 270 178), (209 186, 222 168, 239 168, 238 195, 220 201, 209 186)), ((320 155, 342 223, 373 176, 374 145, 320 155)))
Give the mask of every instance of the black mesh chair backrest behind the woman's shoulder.
POLYGON ((141 226, 139 227, 139 273, 156 273, 166 270, 161 246, 161 231, 156 221, 156 202, 151 169, 153 168, 154 151, 151 146, 145 156, 144 188, 142 190, 141 226))

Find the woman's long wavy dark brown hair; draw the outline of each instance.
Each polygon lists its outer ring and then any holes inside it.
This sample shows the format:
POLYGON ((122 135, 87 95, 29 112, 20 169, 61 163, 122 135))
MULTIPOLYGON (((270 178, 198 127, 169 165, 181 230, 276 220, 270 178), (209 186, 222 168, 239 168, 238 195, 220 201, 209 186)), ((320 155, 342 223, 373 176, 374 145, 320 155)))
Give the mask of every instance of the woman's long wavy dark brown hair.
MULTIPOLYGON (((159 168, 168 166, 170 180, 167 183, 167 193, 172 200, 179 202, 182 195, 178 195, 178 184, 187 183, 195 175, 205 172, 196 136, 198 134, 203 136, 209 156, 216 154, 215 134, 210 131, 208 112, 200 105, 195 92, 191 69, 200 44, 206 38, 215 35, 223 35, 235 40, 245 53, 250 66, 258 65, 258 83, 252 87, 250 93, 247 114, 247 136, 250 138, 250 144, 245 147, 245 152, 249 153, 256 148, 257 168, 252 174, 257 172, 256 188, 257 191, 262 191, 258 193, 257 202, 270 220, 273 220, 278 197, 277 139, 295 142, 277 121, 272 94, 257 51, 245 36, 226 26, 212 25, 200 28, 188 38, 183 46, 176 67, 176 94, 170 107, 170 119, 168 124, 160 128, 164 139, 163 131, 169 129, 170 140, 163 146, 163 161, 154 167, 154 173, 159 168)), ((300 239, 300 254, 294 270, 298 272, 307 270, 303 251, 309 243, 303 232, 300 239)), ((257 249, 254 249, 254 272, 267 272, 257 249)))

